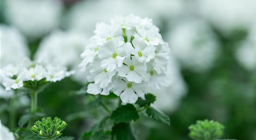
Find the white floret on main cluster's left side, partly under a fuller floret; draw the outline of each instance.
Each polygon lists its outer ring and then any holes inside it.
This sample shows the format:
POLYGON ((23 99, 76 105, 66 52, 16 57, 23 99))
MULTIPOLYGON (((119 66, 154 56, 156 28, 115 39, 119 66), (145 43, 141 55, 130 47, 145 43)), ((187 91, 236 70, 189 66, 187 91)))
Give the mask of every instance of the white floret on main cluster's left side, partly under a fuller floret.
POLYGON ((95 76, 95 84, 98 84, 100 88, 106 88, 108 83, 112 82, 112 77, 116 73, 116 71, 107 71, 100 67, 100 60, 97 58, 90 64, 90 67, 91 69, 89 71, 91 75, 95 76))

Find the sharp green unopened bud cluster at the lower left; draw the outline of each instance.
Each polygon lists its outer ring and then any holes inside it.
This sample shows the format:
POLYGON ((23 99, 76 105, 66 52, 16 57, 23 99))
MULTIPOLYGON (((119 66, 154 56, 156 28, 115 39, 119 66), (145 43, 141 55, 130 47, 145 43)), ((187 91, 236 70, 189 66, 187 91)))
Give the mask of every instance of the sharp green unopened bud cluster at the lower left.
POLYGON ((35 122, 34 126, 30 128, 30 131, 46 140, 55 140, 62 135, 61 131, 63 131, 66 126, 67 123, 57 117, 53 120, 51 117, 47 117, 42 118, 41 121, 35 122))

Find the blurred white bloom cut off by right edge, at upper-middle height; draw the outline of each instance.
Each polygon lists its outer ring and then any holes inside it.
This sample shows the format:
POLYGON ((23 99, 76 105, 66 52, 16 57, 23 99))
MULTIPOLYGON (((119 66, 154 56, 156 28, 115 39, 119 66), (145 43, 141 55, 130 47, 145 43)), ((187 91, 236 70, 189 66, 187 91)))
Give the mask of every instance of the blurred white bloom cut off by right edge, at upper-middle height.
POLYGON ((236 50, 235 56, 245 69, 256 69, 256 24, 251 28, 247 39, 236 50))

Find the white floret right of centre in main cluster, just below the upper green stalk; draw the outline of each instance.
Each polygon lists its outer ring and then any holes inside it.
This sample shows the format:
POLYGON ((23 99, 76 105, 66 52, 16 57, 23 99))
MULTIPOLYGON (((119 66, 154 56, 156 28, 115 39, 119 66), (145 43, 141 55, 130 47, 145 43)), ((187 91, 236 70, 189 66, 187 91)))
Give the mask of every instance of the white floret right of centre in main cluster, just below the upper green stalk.
POLYGON ((126 52, 135 55, 139 62, 145 64, 155 57, 156 48, 153 45, 147 45, 144 41, 136 38, 132 40, 132 44, 134 48, 131 43, 128 43, 126 52))

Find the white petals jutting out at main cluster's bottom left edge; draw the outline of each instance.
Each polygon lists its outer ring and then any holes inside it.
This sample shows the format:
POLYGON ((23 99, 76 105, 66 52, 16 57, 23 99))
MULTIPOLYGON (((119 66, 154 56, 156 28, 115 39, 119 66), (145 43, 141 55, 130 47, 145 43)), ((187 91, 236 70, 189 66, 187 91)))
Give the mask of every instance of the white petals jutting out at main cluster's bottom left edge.
POLYGON ((101 94, 101 95, 109 95, 109 90, 112 89, 112 85, 108 84, 105 88, 100 88, 98 84, 90 83, 87 87, 87 93, 89 94, 101 94))

